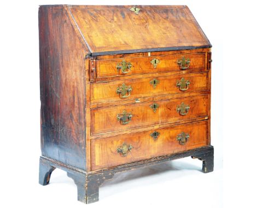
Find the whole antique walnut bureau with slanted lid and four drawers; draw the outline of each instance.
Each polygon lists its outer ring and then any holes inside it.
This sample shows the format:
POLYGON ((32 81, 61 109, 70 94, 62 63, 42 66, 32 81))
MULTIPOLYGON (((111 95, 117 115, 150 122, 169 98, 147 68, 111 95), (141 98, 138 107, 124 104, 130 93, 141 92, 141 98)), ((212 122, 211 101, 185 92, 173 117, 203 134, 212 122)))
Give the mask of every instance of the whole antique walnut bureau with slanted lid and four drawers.
POLYGON ((213 170, 211 44, 187 6, 39 7, 39 183, 93 203, 115 173, 191 156, 213 170))

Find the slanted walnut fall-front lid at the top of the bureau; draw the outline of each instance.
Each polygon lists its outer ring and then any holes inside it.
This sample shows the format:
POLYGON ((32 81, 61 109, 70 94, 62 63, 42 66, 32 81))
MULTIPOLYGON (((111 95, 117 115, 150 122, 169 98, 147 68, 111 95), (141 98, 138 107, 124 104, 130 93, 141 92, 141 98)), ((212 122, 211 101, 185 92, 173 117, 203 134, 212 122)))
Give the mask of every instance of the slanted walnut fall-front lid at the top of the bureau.
POLYGON ((68 5, 92 56, 211 47, 187 6, 68 5))

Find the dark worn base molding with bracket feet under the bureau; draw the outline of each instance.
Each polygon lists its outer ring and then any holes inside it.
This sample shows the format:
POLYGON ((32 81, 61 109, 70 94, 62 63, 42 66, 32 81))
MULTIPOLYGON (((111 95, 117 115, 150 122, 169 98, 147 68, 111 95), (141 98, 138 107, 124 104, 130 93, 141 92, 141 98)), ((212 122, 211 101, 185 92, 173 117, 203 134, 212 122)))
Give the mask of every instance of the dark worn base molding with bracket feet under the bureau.
POLYGON ((65 170, 68 177, 72 178, 77 185, 78 189, 78 200, 85 204, 94 203, 98 201, 98 189, 105 180, 112 179, 115 173, 126 172, 137 168, 144 168, 154 166, 155 164, 177 160, 179 158, 189 157, 198 158, 202 161, 202 172, 209 173, 213 171, 213 158, 214 149, 212 145, 204 146, 185 152, 180 152, 172 155, 165 155, 155 157, 149 160, 143 160, 139 162, 133 162, 124 164, 123 166, 96 170, 93 172, 86 172, 85 170, 68 166, 62 162, 40 156, 39 160, 39 183, 41 185, 48 185, 50 181, 51 173, 55 168, 65 170))

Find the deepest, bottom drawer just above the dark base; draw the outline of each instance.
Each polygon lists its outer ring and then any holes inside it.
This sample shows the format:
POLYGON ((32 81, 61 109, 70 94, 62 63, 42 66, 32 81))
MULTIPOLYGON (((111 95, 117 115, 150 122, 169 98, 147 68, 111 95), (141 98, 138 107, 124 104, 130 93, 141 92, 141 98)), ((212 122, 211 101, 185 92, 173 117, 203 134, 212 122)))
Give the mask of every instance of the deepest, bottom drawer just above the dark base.
POLYGON ((208 145, 208 120, 91 140, 92 170, 208 145))

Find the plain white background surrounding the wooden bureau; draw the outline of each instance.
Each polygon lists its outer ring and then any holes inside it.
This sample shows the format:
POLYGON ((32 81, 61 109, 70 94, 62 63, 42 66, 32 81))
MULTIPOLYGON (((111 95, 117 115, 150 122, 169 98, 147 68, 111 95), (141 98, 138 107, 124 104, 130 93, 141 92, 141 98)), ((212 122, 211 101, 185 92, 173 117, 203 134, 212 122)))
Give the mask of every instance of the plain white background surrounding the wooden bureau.
POLYGON ((8 1, 1 2, 0 21, 1 207, 223 207, 223 201, 224 207, 255 207, 253 1, 8 1), (203 174, 201 161, 184 158, 117 174, 90 205, 77 201, 74 182, 61 170, 53 172, 50 185, 40 186, 41 4, 188 5, 213 45, 214 172, 203 174))

